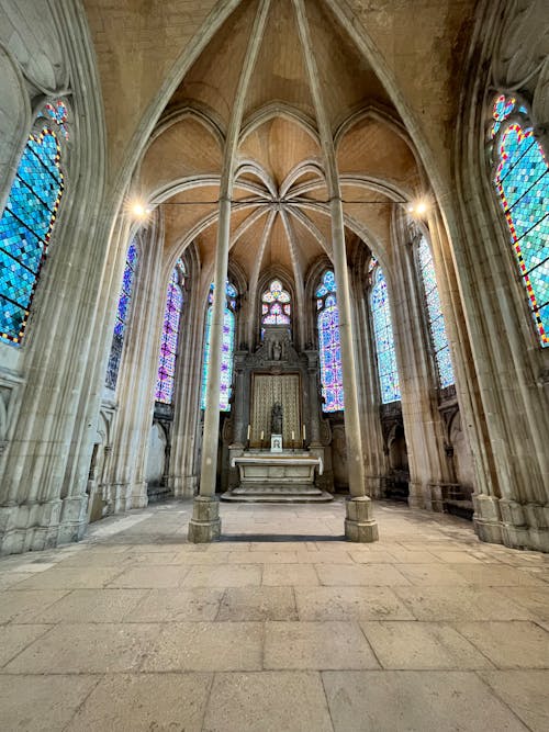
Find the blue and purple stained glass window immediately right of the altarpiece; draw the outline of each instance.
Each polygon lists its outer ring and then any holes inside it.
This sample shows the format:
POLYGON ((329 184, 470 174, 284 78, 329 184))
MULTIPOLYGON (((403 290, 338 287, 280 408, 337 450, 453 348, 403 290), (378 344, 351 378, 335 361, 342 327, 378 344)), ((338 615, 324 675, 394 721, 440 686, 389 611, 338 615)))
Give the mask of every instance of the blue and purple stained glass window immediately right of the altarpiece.
POLYGON ((336 299, 336 279, 326 270, 316 291, 316 325, 321 356, 323 412, 340 412, 345 407, 339 341, 339 311, 336 299))

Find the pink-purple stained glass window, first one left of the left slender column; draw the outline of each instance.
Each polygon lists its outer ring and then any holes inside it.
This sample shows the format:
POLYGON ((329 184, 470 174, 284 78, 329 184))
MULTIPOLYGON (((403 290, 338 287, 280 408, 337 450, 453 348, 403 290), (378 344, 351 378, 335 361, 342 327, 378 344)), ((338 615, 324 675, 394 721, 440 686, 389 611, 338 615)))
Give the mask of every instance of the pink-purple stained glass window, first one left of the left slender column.
POLYGON ((179 324, 183 307, 184 264, 179 259, 168 283, 166 308, 164 311, 163 337, 156 378, 155 399, 171 404, 176 380, 176 357, 179 339, 179 324))

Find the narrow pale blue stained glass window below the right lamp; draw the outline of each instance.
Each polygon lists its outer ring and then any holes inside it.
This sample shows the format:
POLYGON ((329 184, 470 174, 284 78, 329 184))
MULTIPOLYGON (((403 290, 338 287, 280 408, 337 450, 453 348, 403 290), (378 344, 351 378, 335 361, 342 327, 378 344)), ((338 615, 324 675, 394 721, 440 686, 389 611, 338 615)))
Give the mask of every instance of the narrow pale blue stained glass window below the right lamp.
POLYGON ((446 335, 446 325, 440 308, 437 280, 435 277, 435 264, 433 254, 425 236, 422 236, 417 248, 419 273, 422 277, 425 304, 427 306, 427 320, 435 361, 437 364, 438 383, 441 388, 453 384, 453 369, 450 359, 450 347, 446 335))

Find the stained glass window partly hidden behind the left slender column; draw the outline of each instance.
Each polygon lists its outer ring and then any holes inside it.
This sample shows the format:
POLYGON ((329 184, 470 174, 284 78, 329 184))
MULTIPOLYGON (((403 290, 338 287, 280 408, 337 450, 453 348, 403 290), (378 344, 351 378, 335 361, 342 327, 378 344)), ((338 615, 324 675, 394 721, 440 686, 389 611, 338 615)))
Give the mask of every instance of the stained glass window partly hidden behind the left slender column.
MULTIPOLYGON (((227 281, 225 285, 226 305, 223 316, 223 342, 221 352, 221 386, 220 386, 220 412, 229 412, 231 387, 233 384, 233 352, 235 346, 236 326, 236 288, 227 281)), ((210 329, 212 327, 213 283, 208 297, 208 313, 204 334, 204 358, 202 362, 202 397, 200 405, 205 409, 205 388, 208 381, 208 369, 210 367, 210 329)))

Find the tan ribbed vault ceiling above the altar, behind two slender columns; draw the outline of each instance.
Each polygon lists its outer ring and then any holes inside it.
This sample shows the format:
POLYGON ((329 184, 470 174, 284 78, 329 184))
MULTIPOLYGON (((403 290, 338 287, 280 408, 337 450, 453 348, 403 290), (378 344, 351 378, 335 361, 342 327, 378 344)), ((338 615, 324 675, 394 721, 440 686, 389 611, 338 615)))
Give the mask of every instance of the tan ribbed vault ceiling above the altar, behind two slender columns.
MULTIPOLYGON (((257 0, 245 0, 211 40, 160 117, 139 169, 142 194, 161 204, 167 257, 194 241, 206 272, 216 246, 224 137, 257 9, 257 0)), ((349 243, 358 235, 389 256, 395 202, 421 190, 416 158, 383 86, 328 4, 307 0, 305 9, 322 114, 336 139, 349 243)), ((332 255, 318 109, 305 53, 292 0, 271 2, 243 100, 232 195, 229 256, 251 293, 274 264, 303 282, 314 261, 332 255)))

